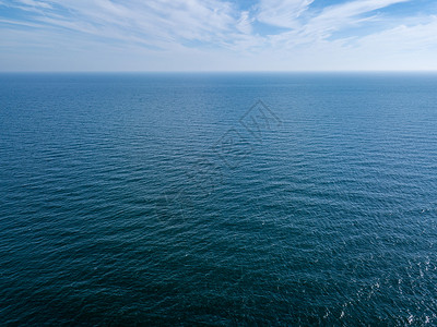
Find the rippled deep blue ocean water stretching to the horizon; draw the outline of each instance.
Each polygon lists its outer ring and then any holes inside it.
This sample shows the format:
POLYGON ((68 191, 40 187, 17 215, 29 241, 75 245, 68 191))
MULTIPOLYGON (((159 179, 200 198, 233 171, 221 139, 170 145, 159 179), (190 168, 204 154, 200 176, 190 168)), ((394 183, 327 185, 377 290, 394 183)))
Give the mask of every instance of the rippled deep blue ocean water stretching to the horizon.
POLYGON ((0 75, 0 324, 437 324, 437 75, 0 75))

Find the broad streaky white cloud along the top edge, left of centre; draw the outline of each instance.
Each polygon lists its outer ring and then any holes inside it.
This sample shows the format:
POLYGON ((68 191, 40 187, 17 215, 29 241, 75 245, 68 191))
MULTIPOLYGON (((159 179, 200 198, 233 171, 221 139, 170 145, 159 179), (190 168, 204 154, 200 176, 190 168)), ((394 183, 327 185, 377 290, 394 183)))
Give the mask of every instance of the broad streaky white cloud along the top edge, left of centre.
POLYGON ((125 4, 109 0, 61 0, 59 4, 73 13, 71 23, 85 21, 102 29, 118 28, 168 41, 211 41, 221 33, 229 32, 237 22, 231 5, 218 0, 133 0, 125 4))

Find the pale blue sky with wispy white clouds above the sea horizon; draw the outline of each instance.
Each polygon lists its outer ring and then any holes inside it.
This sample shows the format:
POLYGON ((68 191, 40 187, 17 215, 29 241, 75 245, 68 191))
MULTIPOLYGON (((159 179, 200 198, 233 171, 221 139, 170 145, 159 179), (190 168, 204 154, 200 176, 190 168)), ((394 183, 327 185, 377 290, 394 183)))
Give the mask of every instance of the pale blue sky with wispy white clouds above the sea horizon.
POLYGON ((437 71, 437 1, 0 0, 9 71, 437 71))

